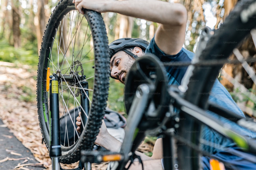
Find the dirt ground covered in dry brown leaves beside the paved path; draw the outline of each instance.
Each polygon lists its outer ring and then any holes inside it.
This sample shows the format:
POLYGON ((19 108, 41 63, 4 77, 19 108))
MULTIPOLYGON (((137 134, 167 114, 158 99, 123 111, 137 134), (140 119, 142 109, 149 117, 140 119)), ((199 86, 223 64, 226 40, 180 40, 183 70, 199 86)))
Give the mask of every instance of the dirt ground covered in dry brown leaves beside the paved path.
MULTIPOLYGON (((14 66, 0 61, 0 119, 13 135, 34 155, 38 165, 51 169, 49 152, 39 127, 36 103, 36 71, 29 66, 14 66)), ((1 131, 0 131, 1 136, 1 131)), ((142 144, 141 151, 152 150, 152 145, 142 144)), ((0 162, 3 158, 0 158, 0 162)), ((11 160, 5 160, 8 162, 11 160)), ((76 165, 71 165, 74 168, 76 165)), ((93 169, 106 169, 106 163, 93 165, 93 169)), ((70 165, 62 165, 71 168, 70 165)), ((23 166, 17 169, 26 169, 23 166)), ((29 169, 29 168, 27 168, 29 169)), ((27 170, 26 169, 26 170, 27 170)))

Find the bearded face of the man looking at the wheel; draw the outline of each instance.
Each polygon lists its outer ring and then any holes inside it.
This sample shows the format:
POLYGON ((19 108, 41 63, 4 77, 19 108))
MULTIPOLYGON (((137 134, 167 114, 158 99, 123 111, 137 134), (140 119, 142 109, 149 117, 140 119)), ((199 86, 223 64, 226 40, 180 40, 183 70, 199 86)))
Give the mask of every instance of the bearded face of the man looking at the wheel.
POLYGON ((110 59, 111 76, 116 77, 124 84, 126 75, 134 61, 135 59, 124 51, 117 52, 110 59))

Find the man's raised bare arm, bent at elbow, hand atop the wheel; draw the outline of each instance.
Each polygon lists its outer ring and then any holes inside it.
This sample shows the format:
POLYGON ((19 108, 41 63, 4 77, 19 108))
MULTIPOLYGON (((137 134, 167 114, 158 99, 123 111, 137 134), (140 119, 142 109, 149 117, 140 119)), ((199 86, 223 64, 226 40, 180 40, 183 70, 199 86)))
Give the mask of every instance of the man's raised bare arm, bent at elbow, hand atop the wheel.
POLYGON ((177 54, 185 41, 187 10, 178 3, 167 3, 157 0, 74 0, 76 8, 98 12, 116 12, 148 21, 158 22, 155 34, 157 46, 168 55, 177 54))

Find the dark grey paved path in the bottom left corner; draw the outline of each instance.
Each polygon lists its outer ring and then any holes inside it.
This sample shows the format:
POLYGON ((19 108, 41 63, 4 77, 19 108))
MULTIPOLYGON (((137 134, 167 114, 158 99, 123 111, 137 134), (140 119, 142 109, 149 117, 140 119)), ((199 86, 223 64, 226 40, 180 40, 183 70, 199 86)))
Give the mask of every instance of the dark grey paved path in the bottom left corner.
MULTIPOLYGON (((10 130, 4 125, 3 121, 0 119, 0 169, 9 170, 14 169, 19 163, 20 164, 30 164, 28 166, 23 166, 23 169, 27 170, 42 170, 44 167, 33 166, 31 164, 38 163, 33 154, 22 145, 22 143, 9 132, 10 130), (17 153, 17 155, 15 155, 17 153), (20 155, 19 155, 20 154, 20 155), (2 162, 6 158, 9 158, 7 161, 2 162), (19 158, 23 158, 17 160, 19 158), (16 159, 16 160, 11 160, 16 159), (27 162, 22 163, 27 160, 27 162)), ((41 166, 41 165, 40 165, 41 166)))

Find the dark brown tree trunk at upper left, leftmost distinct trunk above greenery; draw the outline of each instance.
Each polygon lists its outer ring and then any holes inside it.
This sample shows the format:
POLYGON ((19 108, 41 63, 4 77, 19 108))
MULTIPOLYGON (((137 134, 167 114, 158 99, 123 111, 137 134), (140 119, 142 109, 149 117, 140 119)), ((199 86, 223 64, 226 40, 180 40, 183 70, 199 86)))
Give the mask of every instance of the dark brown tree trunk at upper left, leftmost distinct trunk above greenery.
POLYGON ((21 38, 20 38, 20 10, 19 10, 19 2, 12 1, 12 17, 13 17, 13 24, 12 24, 12 31, 13 31, 13 45, 15 48, 20 47, 21 45, 21 38))

